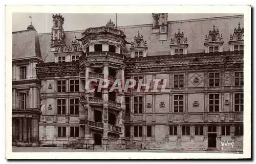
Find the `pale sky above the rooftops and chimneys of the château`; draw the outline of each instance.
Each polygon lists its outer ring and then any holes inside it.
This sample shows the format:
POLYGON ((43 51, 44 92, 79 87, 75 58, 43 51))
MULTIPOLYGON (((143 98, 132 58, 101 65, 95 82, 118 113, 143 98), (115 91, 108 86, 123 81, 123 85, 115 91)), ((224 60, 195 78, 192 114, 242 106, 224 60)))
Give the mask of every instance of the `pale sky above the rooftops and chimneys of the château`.
MULTIPOLYGON (((32 17, 32 25, 37 33, 51 33, 53 13, 13 13, 12 32, 27 30, 32 17)), ((56 14, 56 13, 54 13, 56 14)), ((58 13, 57 13, 58 14, 58 13)), ((111 19, 116 24, 116 14, 61 13, 65 18, 64 31, 85 30, 90 27, 105 26, 111 19)), ((198 19, 239 14, 168 14, 168 21, 198 19)), ((117 14, 117 26, 152 23, 152 14, 117 14)))

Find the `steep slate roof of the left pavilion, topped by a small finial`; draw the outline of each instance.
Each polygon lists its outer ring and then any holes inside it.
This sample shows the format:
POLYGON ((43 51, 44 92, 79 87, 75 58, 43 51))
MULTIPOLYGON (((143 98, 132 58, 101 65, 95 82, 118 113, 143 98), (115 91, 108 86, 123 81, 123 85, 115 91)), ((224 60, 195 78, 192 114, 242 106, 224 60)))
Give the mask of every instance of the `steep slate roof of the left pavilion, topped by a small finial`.
POLYGON ((35 30, 12 33, 12 59, 41 57, 39 36, 35 30))

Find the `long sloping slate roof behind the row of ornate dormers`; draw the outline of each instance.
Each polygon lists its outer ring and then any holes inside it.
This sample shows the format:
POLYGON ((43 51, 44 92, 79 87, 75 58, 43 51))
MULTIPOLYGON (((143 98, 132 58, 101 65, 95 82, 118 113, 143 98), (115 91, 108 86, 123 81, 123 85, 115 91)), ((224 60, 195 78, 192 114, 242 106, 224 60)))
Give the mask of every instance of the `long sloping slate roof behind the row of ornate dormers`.
MULTIPOLYGON (((209 31, 213 29, 213 25, 215 25, 216 30, 219 30, 220 35, 223 35, 223 51, 228 51, 229 36, 233 34, 234 28, 238 28, 239 22, 242 28, 244 26, 243 15, 168 21, 166 41, 159 41, 159 34, 152 33, 152 24, 119 26, 117 29, 124 32, 126 41, 130 43, 134 41, 134 37, 138 35, 139 31, 140 35, 143 36, 143 39, 145 39, 147 43, 147 56, 160 56, 169 54, 170 39, 174 38, 175 33, 178 33, 178 28, 180 28, 180 32, 184 33, 184 37, 187 37, 188 53, 203 52, 205 35, 208 36, 209 31)), ((66 44, 70 45, 75 36, 77 39, 80 39, 84 31, 85 30, 65 32, 66 44)), ((44 59, 45 62, 54 62, 55 57, 50 49, 51 33, 39 34, 39 40, 42 59, 44 59)), ((124 53, 129 56, 130 51, 130 44, 127 44, 124 53)))

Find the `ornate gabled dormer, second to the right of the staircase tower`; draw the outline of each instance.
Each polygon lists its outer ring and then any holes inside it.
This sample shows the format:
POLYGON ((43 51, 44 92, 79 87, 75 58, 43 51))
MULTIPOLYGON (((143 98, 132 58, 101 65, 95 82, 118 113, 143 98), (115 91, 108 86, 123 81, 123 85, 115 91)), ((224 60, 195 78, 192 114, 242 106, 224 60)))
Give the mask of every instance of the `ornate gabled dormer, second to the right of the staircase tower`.
POLYGON ((178 29, 178 34, 174 34, 174 38, 170 39, 170 55, 187 54, 187 37, 178 29))

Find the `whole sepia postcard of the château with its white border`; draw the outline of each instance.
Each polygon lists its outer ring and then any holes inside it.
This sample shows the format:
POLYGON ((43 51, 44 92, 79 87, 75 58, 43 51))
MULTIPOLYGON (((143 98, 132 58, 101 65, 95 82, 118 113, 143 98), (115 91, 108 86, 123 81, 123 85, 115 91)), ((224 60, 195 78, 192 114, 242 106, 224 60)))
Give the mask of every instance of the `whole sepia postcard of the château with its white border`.
POLYGON ((5 30, 7 159, 251 158, 250 6, 6 6, 5 30))

